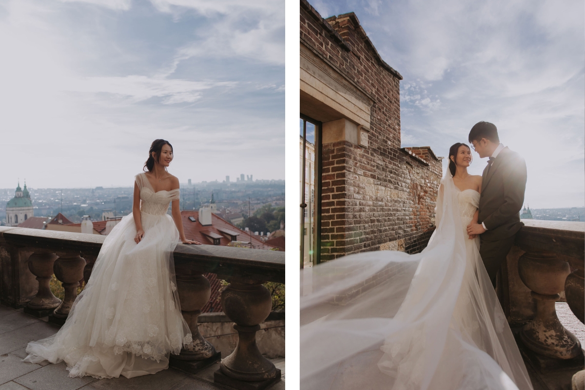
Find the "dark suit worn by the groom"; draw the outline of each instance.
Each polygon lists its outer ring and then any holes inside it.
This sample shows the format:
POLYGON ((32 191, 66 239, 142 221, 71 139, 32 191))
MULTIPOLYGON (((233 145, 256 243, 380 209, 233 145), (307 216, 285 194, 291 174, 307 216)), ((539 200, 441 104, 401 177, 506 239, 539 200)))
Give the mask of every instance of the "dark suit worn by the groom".
POLYGON ((495 275, 514 244, 524 203, 526 163, 515 151, 504 147, 483 171, 478 223, 487 231, 480 235, 480 255, 495 288, 495 275))

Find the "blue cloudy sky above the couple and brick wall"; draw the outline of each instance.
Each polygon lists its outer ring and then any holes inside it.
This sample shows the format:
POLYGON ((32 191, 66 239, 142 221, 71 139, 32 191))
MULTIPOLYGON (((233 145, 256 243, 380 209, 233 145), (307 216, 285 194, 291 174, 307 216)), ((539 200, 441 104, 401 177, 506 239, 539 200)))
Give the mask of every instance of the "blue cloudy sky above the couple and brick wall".
MULTIPOLYGON (((480 120, 526 160, 531 208, 585 204, 585 3, 312 0, 355 12, 400 72, 402 146, 446 156, 480 120)), ((474 153, 472 174, 487 159, 474 153)), ((445 163, 446 167, 446 163, 445 163)))

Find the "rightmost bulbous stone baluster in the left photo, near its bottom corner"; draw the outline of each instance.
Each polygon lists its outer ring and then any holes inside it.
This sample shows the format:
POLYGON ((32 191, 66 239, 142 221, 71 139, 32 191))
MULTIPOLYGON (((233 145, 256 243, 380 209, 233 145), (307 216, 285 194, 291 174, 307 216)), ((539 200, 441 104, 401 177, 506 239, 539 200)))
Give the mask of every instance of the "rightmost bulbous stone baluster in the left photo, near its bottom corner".
POLYGON ((222 359, 220 370, 215 372, 215 382, 232 388, 247 388, 238 381, 278 381, 281 372, 262 356, 256 345, 256 332, 272 308, 270 292, 261 281, 238 277, 226 277, 228 287, 222 292, 222 308, 235 324, 238 345, 230 356, 222 359), (235 379, 235 380, 234 380, 235 379))

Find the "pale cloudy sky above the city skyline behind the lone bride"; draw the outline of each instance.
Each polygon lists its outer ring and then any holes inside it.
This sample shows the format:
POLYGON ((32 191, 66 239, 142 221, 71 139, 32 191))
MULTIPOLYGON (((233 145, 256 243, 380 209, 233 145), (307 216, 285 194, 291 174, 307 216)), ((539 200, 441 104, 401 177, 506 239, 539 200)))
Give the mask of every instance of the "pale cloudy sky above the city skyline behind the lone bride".
POLYGON ((0 53, 0 188, 284 179, 284 0, 0 1, 0 53))

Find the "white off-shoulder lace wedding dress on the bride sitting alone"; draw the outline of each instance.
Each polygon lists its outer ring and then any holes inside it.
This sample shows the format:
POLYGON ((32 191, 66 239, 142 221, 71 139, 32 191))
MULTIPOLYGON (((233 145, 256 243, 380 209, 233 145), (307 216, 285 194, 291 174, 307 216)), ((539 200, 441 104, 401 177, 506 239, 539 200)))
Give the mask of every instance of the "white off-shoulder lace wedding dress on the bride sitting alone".
POLYGON ((64 360, 70 377, 132 378, 166 369, 170 353, 192 347, 174 277, 179 234, 167 215, 179 190, 154 192, 144 173, 136 183, 143 239, 134 241, 132 214, 122 218, 104 240, 66 323, 53 336, 29 343, 24 361, 64 360))

